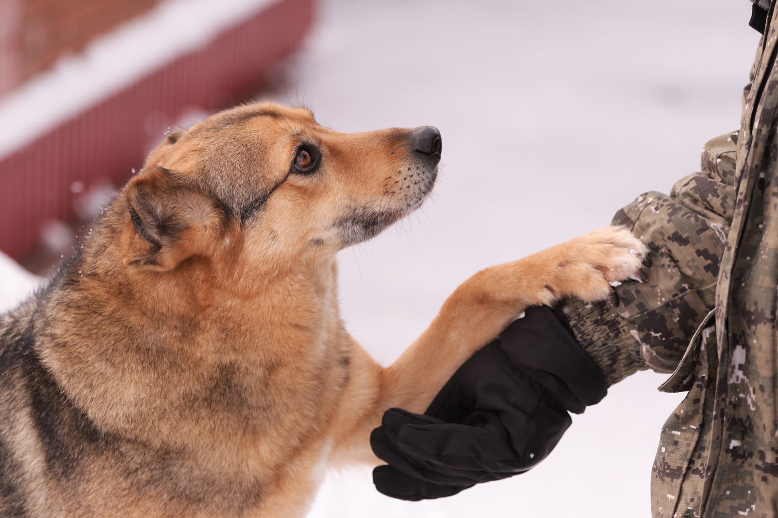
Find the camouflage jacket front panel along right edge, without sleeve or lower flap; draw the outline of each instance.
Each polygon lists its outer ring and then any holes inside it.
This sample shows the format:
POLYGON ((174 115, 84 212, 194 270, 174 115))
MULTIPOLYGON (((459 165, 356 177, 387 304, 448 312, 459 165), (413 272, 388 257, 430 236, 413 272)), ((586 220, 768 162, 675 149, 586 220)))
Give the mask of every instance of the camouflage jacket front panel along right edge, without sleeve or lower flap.
POLYGON ((718 362, 704 516, 778 514, 778 43, 775 6, 745 90, 738 196, 716 293, 718 362))

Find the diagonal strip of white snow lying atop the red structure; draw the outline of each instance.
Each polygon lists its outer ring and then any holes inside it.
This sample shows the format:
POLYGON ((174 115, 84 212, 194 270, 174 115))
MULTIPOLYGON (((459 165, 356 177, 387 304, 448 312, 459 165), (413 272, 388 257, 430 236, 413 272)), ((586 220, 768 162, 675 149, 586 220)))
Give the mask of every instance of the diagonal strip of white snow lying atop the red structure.
POLYGON ((166 0, 0 100, 0 156, 207 44, 276 0, 166 0), (184 23, 185 20, 185 23, 184 23), (121 57, 121 59, 117 59, 121 57))

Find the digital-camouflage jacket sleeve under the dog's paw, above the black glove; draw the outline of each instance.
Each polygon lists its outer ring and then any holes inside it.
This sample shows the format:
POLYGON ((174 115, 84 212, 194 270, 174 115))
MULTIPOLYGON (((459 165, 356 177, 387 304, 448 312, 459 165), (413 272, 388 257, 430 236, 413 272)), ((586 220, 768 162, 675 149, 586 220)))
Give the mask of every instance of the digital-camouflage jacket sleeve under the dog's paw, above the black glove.
POLYGON ((616 213, 650 248, 647 282, 615 289, 619 303, 566 306, 580 344, 608 386, 637 370, 671 373, 696 327, 713 309, 719 261, 734 208, 738 133, 713 138, 702 172, 679 180, 669 196, 640 195, 616 213))

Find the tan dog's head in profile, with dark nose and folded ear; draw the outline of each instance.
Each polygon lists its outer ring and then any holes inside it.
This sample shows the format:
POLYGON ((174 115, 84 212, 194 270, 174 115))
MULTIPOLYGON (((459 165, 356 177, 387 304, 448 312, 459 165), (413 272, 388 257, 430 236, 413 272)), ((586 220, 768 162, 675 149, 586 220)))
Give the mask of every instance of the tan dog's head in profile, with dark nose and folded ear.
POLYGON ((303 108, 223 111, 168 135, 128 184, 124 262, 168 270, 226 250, 256 265, 335 254, 418 208, 440 151, 429 126, 344 134, 303 108))

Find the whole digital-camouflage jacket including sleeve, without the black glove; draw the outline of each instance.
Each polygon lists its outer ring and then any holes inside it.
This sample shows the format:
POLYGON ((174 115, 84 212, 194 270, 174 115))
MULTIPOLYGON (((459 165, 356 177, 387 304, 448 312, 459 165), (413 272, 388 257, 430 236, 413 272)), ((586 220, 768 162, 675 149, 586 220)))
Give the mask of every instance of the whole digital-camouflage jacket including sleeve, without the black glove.
POLYGON ((638 369, 688 391, 661 431, 654 516, 778 516, 778 13, 768 13, 741 129, 702 172, 615 215, 652 250, 619 306, 574 303, 576 338, 608 383, 638 369))

